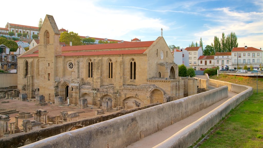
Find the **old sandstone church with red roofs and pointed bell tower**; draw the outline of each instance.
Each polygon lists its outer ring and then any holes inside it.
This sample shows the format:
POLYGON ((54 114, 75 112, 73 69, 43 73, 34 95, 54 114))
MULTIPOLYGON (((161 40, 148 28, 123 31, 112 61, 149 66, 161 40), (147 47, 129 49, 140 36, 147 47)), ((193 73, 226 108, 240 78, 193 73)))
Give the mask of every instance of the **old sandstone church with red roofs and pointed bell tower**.
POLYGON ((28 99, 43 95, 54 102, 62 96, 65 103, 68 98, 79 105, 85 99, 87 105, 99 107, 110 98, 112 107, 126 102, 132 108, 134 100, 144 106, 196 93, 197 81, 178 77, 178 65, 163 37, 61 47, 59 35, 53 16, 46 15, 39 44, 18 57, 18 89, 28 99))

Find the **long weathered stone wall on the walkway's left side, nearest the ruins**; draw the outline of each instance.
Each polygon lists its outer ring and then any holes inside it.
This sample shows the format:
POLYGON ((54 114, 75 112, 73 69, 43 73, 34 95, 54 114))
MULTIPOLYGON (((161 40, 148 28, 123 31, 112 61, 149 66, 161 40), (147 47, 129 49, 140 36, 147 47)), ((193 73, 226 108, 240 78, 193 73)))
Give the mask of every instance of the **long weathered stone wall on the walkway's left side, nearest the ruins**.
POLYGON ((126 147, 227 96, 227 86, 223 86, 65 132, 24 147, 126 147))

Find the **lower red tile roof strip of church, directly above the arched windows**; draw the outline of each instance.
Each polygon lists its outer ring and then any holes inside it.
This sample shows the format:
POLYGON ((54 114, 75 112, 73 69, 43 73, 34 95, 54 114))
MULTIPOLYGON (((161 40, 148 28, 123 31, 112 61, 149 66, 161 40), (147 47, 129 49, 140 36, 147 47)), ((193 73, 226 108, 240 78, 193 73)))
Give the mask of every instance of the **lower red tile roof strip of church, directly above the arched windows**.
POLYGON ((142 54, 143 50, 116 50, 116 51, 86 51, 86 52, 67 52, 59 56, 94 56, 94 55, 129 55, 129 54, 142 54))

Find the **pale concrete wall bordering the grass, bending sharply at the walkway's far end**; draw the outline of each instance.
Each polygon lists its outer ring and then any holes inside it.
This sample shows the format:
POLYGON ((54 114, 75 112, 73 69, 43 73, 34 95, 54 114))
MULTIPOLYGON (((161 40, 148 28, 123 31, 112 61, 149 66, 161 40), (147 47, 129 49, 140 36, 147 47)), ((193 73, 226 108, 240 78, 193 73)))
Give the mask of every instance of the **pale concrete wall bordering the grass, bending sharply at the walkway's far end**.
POLYGON ((211 127, 218 123, 222 119, 222 117, 228 114, 231 109, 235 108, 240 102, 251 96, 253 93, 252 87, 237 85, 229 82, 210 79, 209 85, 227 85, 229 86, 229 91, 233 91, 239 94, 233 96, 232 98, 215 108, 213 111, 201 117, 194 123, 186 126, 184 129, 180 130, 169 139, 165 140, 155 147, 180 148, 192 145, 202 136, 202 134, 205 134, 211 127))

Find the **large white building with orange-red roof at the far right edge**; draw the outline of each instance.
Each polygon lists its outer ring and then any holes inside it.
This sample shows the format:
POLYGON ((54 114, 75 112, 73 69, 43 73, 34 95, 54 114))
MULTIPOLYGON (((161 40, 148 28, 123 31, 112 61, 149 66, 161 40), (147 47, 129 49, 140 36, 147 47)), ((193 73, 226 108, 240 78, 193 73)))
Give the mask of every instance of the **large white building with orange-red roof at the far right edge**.
POLYGON ((252 65, 254 68, 259 68, 262 65, 262 50, 254 47, 234 47, 231 51, 232 65, 236 69, 238 67, 249 67, 252 65))

